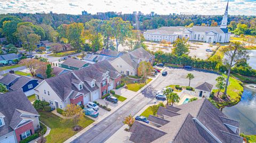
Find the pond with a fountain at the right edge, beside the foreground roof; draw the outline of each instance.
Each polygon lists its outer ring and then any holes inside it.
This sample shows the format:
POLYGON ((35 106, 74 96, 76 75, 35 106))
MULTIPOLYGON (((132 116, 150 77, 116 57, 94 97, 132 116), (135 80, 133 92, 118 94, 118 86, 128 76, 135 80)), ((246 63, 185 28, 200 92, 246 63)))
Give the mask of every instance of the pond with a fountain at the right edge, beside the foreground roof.
POLYGON ((256 134, 256 85, 245 85, 241 101, 235 106, 223 108, 222 112, 240 122, 241 133, 256 134))

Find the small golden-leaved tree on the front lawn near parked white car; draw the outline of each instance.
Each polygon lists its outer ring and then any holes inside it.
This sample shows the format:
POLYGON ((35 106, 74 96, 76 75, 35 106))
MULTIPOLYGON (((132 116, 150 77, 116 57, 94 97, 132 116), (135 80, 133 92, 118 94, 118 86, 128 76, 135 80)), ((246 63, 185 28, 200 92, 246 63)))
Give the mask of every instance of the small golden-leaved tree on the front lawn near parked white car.
MULTIPOLYGON (((79 120, 83 119, 85 116, 82 108, 79 105, 75 105, 75 104, 68 104, 66 109, 62 112, 62 115, 65 116, 66 118, 61 119, 61 121, 65 122, 68 119, 70 119, 71 121, 74 122, 75 128, 79 127, 77 125, 79 120)), ((79 129, 77 129, 77 130, 79 130, 79 129)))

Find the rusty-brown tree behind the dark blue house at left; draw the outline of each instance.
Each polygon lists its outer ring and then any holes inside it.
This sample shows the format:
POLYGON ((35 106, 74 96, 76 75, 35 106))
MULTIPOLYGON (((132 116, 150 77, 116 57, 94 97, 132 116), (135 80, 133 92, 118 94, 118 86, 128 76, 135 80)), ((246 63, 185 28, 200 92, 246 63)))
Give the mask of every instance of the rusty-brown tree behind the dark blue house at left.
POLYGON ((42 65, 42 62, 33 58, 23 59, 20 63, 26 66, 33 77, 36 75, 36 70, 42 65))

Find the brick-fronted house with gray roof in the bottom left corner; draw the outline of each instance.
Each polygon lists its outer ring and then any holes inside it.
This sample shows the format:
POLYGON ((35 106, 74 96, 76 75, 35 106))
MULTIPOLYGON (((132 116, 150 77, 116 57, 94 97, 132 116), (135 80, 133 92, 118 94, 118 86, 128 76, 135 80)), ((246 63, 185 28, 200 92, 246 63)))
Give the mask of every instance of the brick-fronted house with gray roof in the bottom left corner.
POLYGON ((0 142, 20 142, 39 127, 39 114, 21 89, 0 95, 0 142))

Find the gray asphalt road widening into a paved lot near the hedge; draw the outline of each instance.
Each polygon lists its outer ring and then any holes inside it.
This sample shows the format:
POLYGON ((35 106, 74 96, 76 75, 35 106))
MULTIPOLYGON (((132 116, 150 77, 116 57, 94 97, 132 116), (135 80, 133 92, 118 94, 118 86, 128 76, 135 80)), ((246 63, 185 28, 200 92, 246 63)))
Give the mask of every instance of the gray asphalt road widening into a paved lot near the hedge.
MULTIPOLYGON (((96 124, 73 142, 104 142, 112 136, 118 129, 123 126, 123 118, 129 114, 135 115, 147 104, 154 104, 154 95, 157 90, 162 90, 163 87, 173 84, 187 85, 187 73, 195 75, 195 81, 214 82, 218 74, 207 73, 203 71, 184 70, 184 69, 169 69, 168 75, 163 77, 160 75, 150 86, 142 90, 137 96, 132 98, 129 102, 120 107, 116 112, 112 113, 106 119, 96 124), (180 80, 180 81, 177 81, 180 80)), ((191 81, 192 83, 192 81, 191 81)), ((191 85, 195 85, 193 83, 191 85)), ((214 84, 214 83, 212 83, 214 84)))

